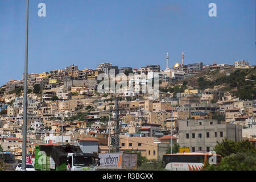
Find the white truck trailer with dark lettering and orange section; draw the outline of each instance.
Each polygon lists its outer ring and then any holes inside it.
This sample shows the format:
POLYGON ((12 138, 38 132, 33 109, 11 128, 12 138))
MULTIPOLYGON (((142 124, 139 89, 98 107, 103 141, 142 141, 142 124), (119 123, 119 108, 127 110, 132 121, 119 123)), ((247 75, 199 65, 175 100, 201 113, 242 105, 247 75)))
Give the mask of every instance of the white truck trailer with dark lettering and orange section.
POLYGON ((137 154, 128 152, 100 153, 99 170, 136 170, 137 154))

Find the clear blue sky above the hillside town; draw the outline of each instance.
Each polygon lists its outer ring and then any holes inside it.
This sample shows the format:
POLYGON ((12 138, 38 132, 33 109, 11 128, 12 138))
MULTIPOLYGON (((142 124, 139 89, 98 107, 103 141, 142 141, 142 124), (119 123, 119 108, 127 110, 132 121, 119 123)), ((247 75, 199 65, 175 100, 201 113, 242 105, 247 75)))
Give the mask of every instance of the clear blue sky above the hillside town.
MULTIPOLYGON (((24 72, 26 0, 0 0, 0 85, 24 72)), ((255 65, 254 0, 32 0, 28 72, 108 61, 140 68, 202 61, 255 65), (46 17, 38 4, 46 3, 46 17), (209 17, 209 3, 217 17, 209 17)))

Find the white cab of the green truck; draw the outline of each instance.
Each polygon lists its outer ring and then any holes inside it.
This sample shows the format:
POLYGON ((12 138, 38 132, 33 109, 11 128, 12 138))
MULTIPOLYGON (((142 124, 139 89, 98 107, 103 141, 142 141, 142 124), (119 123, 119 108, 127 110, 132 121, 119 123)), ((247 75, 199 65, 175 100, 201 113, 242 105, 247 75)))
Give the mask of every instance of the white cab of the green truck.
POLYGON ((68 153, 67 171, 96 171, 97 161, 93 154, 68 153))

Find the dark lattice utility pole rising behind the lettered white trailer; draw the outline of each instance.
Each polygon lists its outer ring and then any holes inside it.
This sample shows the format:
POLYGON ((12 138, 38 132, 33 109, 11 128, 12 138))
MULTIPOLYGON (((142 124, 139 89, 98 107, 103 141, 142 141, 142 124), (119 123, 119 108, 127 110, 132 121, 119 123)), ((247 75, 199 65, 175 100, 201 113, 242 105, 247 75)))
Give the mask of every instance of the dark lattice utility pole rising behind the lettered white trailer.
POLYGON ((120 126, 119 126, 119 110, 118 110, 118 97, 115 97, 115 134, 114 134, 114 148, 115 152, 119 152, 119 134, 120 134, 120 126))

